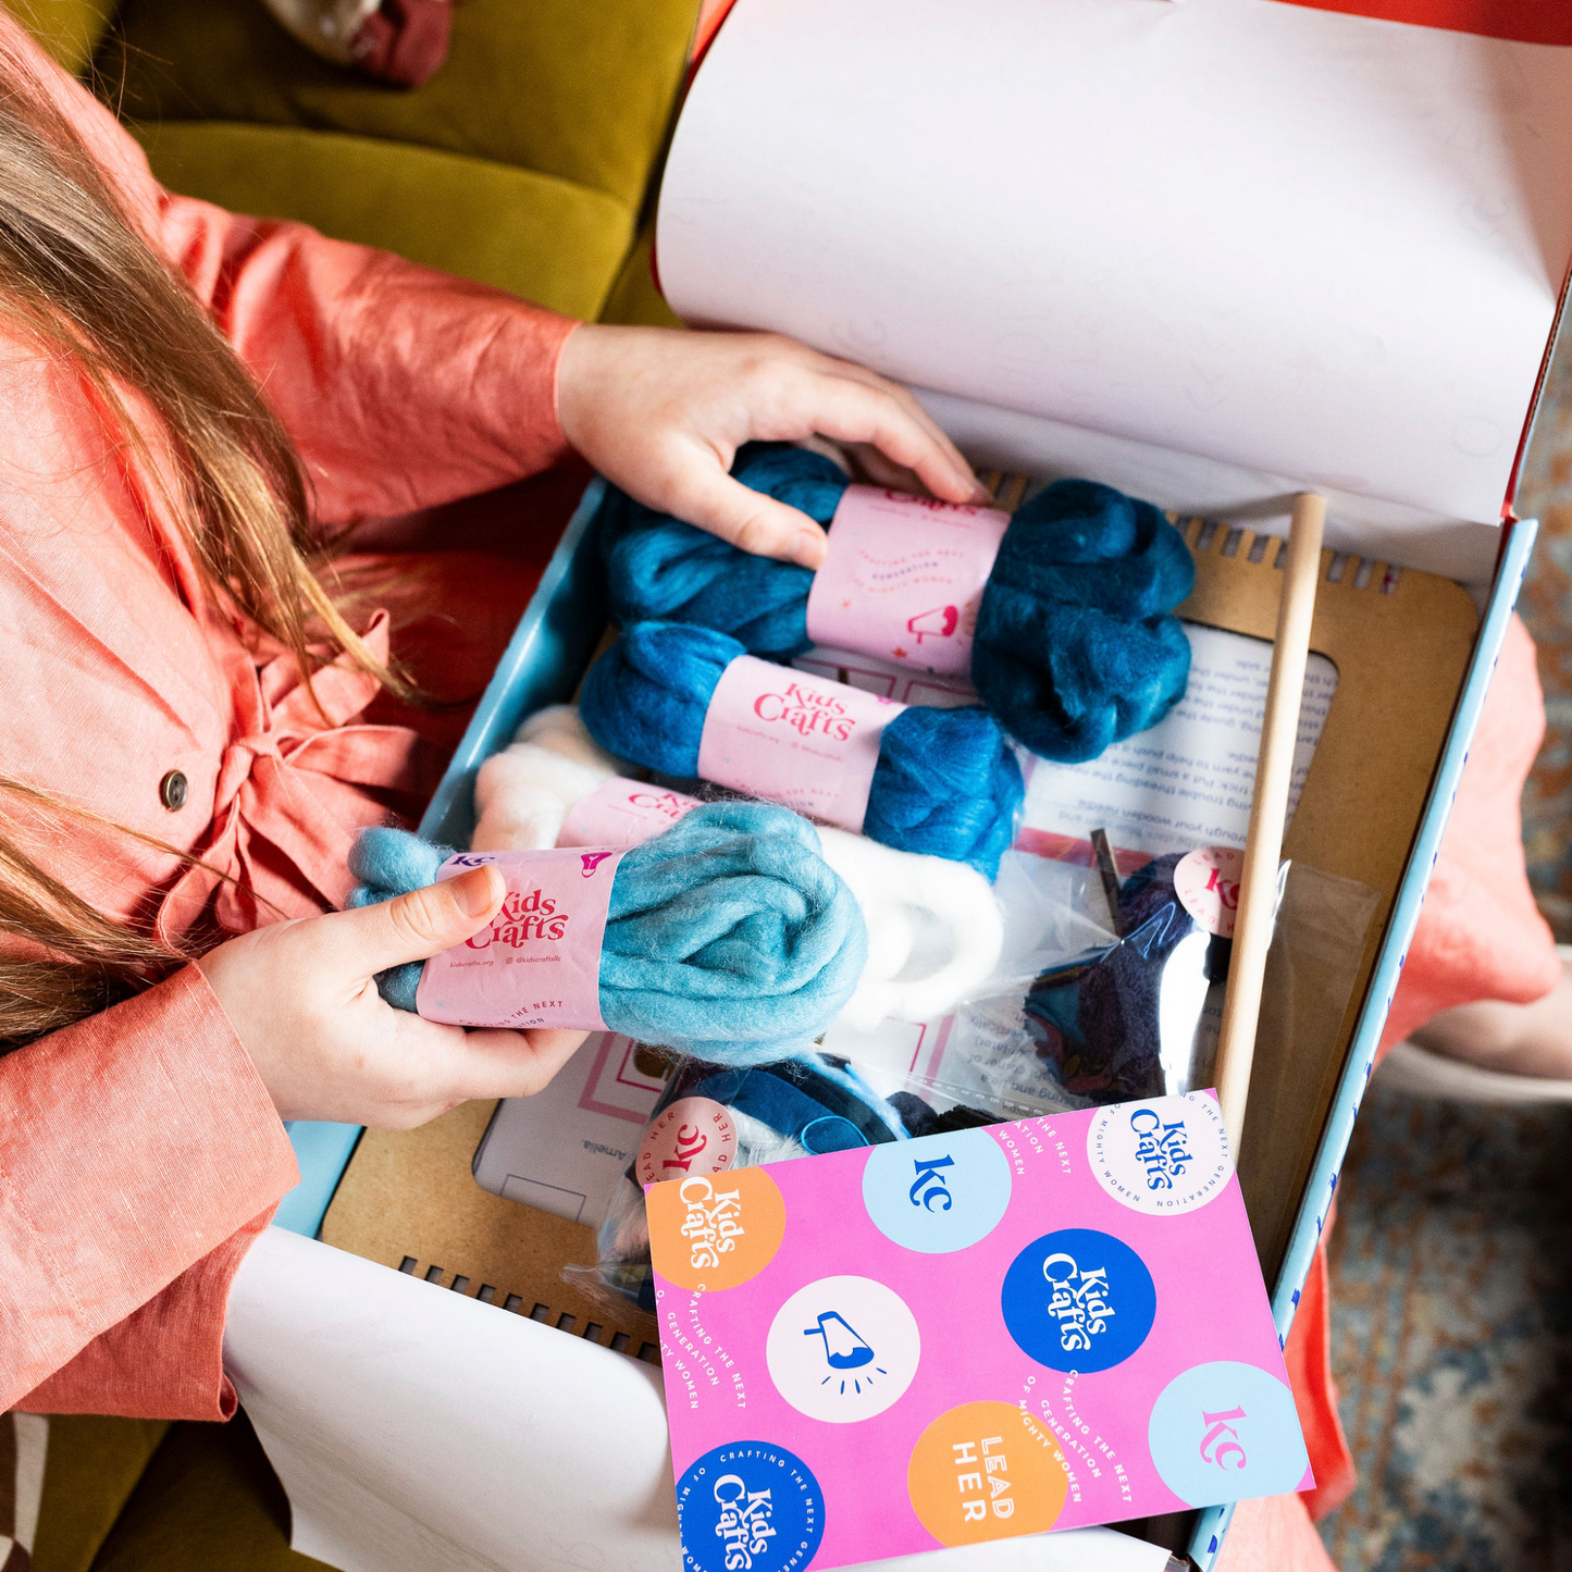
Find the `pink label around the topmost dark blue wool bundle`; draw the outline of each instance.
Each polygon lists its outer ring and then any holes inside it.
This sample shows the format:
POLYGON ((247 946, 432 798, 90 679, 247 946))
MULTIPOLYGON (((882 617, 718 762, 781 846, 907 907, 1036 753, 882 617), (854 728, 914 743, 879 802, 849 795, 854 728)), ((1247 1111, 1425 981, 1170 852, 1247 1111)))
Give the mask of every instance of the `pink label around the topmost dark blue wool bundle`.
POLYGON ((816 645, 916 671, 971 671, 982 586, 1009 514, 849 486, 808 591, 816 645))

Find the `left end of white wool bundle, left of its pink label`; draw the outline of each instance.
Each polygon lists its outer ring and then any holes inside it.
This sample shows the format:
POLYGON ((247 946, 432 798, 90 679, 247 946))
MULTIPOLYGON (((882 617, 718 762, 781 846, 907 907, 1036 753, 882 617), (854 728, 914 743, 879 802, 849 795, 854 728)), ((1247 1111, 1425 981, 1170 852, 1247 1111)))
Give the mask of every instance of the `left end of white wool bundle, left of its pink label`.
POLYGON ((544 852, 580 797, 616 775, 616 759, 585 731, 572 704, 531 715, 475 781, 475 852, 544 852))

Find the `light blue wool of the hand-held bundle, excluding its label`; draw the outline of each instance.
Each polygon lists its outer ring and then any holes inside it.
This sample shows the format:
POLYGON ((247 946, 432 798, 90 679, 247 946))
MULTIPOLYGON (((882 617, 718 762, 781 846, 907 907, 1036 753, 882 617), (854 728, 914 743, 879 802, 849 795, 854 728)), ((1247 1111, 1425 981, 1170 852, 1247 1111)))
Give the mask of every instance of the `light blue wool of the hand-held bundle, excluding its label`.
MULTIPOLYGON (((362 830, 352 907, 429 885, 453 854, 404 830, 362 830)), ((813 825, 767 803, 711 803, 630 847, 616 869, 601 951, 612 1031, 729 1066, 802 1052, 850 998, 868 959, 852 893, 813 825)), ((415 1008, 421 964, 377 978, 415 1008)))

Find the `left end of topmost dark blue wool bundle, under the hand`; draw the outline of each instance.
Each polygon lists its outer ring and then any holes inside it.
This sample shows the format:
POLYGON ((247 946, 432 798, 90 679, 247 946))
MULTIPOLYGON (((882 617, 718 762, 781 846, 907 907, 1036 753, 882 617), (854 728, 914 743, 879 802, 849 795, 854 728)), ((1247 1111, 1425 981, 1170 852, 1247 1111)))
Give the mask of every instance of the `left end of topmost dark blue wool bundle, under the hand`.
MULTIPOLYGON (((822 453, 750 445, 739 481, 827 525, 847 479, 822 453)), ((728 545, 608 490, 599 516, 612 615, 623 623, 693 623, 740 640, 748 654, 791 660, 808 648, 813 572, 728 545)))

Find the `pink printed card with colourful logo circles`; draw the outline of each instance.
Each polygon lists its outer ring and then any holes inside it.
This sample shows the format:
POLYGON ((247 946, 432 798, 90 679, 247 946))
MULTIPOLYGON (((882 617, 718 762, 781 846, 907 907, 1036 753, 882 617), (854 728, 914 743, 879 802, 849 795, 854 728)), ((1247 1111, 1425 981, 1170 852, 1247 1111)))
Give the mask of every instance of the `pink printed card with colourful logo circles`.
POLYGON ((690 1168, 648 1204, 687 1572, 1314 1484, 1210 1093, 690 1168))

